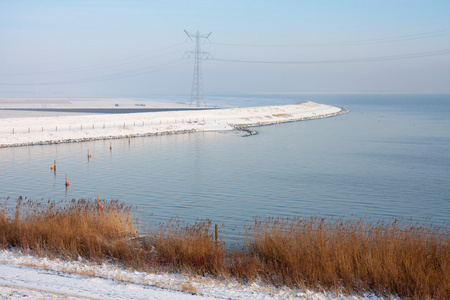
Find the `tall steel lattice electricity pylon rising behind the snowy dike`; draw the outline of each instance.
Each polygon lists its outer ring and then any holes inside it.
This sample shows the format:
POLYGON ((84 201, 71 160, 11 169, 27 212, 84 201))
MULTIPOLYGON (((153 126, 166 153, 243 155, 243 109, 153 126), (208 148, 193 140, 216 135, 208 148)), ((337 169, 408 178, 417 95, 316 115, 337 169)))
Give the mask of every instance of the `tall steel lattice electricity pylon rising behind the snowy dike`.
POLYGON ((197 31, 196 34, 192 34, 187 32, 187 36, 192 40, 195 38, 195 50, 186 51, 187 57, 194 56, 194 78, 192 80, 192 91, 191 91, 191 105, 195 101, 196 106, 200 106, 200 102, 206 106, 205 99, 203 97, 203 81, 202 81, 202 69, 201 69, 201 60, 212 58, 209 52, 205 52, 201 50, 200 39, 208 39, 211 35, 211 32, 208 34, 200 35, 197 31))

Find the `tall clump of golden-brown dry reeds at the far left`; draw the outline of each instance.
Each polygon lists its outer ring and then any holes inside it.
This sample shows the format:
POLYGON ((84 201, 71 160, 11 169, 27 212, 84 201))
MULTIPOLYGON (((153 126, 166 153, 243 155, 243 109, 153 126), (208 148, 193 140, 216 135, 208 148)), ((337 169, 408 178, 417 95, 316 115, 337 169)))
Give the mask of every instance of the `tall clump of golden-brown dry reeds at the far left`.
POLYGON ((133 211, 118 201, 100 205, 102 210, 84 199, 42 204, 19 198, 13 212, 6 204, 0 210, 0 245, 69 258, 111 256, 117 241, 136 234, 133 211))

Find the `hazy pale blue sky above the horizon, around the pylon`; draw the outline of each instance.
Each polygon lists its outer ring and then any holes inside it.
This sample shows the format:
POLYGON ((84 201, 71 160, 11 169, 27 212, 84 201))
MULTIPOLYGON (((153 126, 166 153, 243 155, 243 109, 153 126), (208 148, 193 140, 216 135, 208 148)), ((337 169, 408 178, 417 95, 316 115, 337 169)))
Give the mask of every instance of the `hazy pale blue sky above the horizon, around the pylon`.
POLYGON ((0 0, 0 94, 450 93, 450 1, 0 0))

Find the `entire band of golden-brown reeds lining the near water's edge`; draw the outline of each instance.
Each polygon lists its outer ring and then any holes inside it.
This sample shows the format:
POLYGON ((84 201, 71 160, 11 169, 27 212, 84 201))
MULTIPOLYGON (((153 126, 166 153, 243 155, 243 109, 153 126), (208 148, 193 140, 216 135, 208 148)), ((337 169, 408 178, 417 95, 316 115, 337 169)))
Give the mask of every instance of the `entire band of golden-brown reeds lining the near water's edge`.
POLYGON ((255 219, 232 248, 215 240, 210 220, 190 225, 173 219, 139 233, 134 210, 118 201, 19 198, 15 209, 6 207, 0 208, 2 248, 344 294, 450 299, 450 243, 442 226, 255 219))

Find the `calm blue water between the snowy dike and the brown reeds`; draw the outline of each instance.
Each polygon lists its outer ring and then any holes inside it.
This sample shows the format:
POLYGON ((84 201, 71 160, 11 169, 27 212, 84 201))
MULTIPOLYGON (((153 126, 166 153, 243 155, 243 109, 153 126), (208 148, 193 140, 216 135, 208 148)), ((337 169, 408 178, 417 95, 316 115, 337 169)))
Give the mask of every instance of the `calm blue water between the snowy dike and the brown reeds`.
MULTIPOLYGON (((216 97, 251 106, 310 99, 351 112, 256 128, 0 149, 2 197, 119 199, 144 223, 254 216, 450 218, 450 96, 216 97), (87 160, 87 150, 93 157, 87 160), (56 176, 50 170, 57 161, 56 176), (64 188, 67 173, 71 186, 64 188)), ((429 221, 427 221, 429 222, 429 221)))

